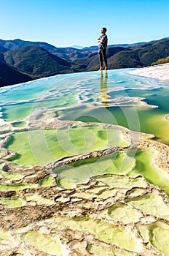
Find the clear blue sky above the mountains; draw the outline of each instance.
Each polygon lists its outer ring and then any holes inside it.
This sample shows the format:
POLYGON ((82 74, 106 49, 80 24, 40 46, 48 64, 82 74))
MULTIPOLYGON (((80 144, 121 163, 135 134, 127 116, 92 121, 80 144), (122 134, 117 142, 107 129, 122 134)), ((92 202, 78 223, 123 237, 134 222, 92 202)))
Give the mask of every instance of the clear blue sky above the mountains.
POLYGON ((109 45, 169 37, 168 0, 0 0, 0 7, 0 39, 91 46, 103 26, 109 45))

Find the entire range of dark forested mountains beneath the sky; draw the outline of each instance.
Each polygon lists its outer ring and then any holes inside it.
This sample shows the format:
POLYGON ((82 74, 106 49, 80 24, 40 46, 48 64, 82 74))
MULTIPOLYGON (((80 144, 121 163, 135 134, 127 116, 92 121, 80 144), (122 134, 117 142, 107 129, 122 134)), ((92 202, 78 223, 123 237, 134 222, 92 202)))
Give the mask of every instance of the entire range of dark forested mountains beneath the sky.
MULTIPOLYGON (((109 69, 147 67, 169 56, 169 38, 131 45, 109 45, 109 69)), ((98 46, 56 48, 47 42, 0 39, 0 86, 99 68, 98 46)))

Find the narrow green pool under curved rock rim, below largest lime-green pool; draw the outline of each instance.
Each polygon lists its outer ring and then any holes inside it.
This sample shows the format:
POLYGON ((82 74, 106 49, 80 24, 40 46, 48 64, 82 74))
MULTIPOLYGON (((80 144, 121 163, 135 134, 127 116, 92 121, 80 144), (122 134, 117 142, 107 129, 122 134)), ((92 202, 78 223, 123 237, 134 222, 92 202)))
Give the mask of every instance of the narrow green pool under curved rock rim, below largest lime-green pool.
POLYGON ((59 183, 66 187, 63 181, 82 183, 87 182, 92 176, 103 174, 126 175, 133 170, 133 167, 135 167, 134 158, 128 157, 126 153, 115 152, 108 156, 79 160, 70 165, 57 167, 53 171, 58 173, 59 183))

